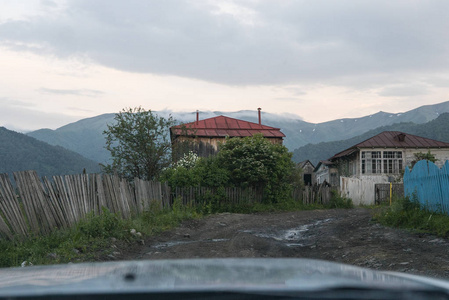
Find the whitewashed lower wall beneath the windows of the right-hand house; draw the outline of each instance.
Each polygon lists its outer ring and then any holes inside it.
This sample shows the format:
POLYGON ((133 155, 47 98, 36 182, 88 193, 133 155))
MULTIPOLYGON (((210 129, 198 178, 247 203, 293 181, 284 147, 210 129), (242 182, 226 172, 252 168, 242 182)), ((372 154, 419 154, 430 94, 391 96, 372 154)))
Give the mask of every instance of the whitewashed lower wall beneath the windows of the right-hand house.
POLYGON ((354 177, 340 177, 340 191, 342 196, 351 198, 354 205, 373 205, 374 186, 376 183, 388 183, 388 176, 372 175, 354 177))

